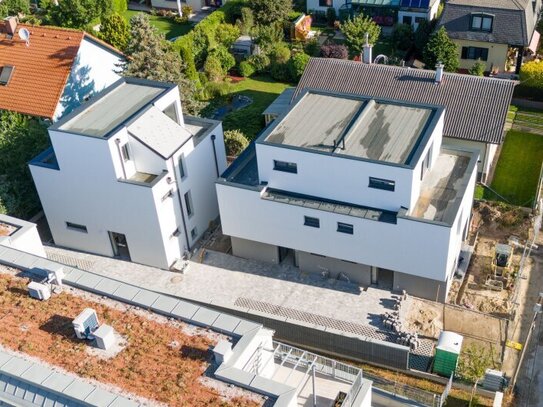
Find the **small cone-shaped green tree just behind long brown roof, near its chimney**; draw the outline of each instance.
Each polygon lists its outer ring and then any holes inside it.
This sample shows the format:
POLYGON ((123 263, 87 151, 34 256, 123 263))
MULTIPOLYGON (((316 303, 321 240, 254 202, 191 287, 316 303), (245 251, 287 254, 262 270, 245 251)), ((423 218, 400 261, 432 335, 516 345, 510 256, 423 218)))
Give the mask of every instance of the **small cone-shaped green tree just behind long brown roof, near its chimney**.
POLYGON ((422 60, 428 69, 435 69, 436 65, 441 62, 448 72, 458 70, 458 48, 449 38, 445 27, 441 27, 430 36, 424 48, 422 60))

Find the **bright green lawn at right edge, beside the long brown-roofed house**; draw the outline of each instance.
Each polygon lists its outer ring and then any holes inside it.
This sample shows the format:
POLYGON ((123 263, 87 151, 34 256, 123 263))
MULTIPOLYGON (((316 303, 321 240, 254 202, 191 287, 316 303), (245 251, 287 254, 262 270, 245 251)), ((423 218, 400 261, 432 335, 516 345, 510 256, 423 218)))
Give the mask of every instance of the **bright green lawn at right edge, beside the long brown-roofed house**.
POLYGON ((511 130, 491 187, 515 205, 532 206, 543 162, 543 136, 511 130))

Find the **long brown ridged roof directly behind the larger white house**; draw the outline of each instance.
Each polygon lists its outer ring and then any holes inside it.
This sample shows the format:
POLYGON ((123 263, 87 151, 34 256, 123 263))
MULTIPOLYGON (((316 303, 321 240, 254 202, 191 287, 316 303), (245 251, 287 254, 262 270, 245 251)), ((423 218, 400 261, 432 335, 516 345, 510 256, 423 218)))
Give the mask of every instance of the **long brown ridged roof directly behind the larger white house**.
POLYGON ((515 82, 396 66, 312 58, 296 88, 350 93, 445 107, 443 134, 500 144, 515 82))

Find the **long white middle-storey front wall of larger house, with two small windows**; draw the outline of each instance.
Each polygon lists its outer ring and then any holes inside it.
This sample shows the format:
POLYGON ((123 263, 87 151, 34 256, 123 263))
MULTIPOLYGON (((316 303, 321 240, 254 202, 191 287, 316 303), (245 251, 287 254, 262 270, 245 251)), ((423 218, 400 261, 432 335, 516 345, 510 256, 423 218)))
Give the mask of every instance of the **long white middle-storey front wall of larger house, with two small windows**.
POLYGON ((257 191, 217 184, 223 232, 227 235, 445 281, 450 227, 398 218, 371 221, 260 198, 257 191), (320 228, 303 225, 304 216, 320 228), (336 231, 337 222, 354 234, 336 231))

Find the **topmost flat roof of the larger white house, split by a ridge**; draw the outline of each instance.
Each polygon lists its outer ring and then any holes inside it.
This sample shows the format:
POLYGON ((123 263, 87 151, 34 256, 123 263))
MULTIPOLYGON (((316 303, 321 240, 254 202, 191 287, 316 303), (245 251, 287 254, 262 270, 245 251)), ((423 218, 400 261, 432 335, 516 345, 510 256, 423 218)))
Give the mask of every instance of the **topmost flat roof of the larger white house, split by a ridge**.
POLYGON ((262 139, 408 165, 437 107, 308 91, 262 139))

